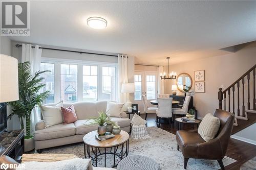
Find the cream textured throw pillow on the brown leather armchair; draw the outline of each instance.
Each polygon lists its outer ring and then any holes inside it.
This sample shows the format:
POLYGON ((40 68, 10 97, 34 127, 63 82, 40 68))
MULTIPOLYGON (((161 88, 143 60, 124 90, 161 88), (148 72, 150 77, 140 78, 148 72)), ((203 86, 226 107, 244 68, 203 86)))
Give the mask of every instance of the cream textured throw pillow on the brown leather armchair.
POLYGON ((220 125, 220 119, 208 113, 204 116, 202 122, 200 123, 198 133, 205 141, 209 141, 216 137, 220 129, 220 125))

